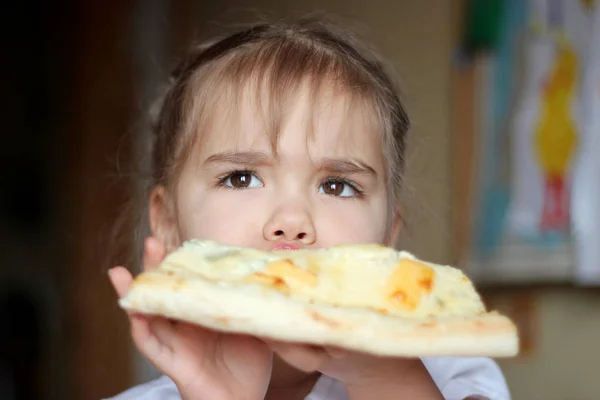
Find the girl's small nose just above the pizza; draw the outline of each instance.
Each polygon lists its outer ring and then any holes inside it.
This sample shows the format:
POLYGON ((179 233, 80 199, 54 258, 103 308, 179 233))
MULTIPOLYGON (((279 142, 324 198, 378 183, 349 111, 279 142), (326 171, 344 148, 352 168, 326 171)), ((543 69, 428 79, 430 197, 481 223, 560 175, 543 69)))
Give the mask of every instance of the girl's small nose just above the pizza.
POLYGON ((316 240, 316 230, 308 211, 299 207, 277 209, 263 228, 268 241, 297 241, 309 245, 316 240))

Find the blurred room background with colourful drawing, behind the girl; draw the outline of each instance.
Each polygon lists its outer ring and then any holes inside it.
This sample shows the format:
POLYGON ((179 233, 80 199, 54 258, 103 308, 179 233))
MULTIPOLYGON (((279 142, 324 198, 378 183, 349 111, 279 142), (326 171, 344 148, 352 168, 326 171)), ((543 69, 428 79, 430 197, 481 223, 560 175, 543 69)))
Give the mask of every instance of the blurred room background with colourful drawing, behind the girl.
POLYGON ((0 399, 99 399, 156 375, 106 275, 113 258, 139 251, 132 237, 115 244, 111 229, 124 216, 133 230, 125 204, 139 187, 127 178, 149 104, 194 38, 320 11, 348 22, 401 77, 414 127, 400 246, 461 266, 517 322, 521 355, 499 360, 515 399, 600 398, 595 3, 5 5, 0 399))

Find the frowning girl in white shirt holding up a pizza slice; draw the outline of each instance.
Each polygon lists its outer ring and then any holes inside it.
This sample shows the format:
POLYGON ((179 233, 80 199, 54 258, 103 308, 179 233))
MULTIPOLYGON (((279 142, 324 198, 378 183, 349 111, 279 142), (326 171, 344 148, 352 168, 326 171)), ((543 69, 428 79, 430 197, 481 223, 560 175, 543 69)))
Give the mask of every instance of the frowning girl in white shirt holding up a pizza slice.
MULTIPOLYGON (((409 121, 382 64, 315 21, 198 47, 153 136, 144 268, 200 238, 264 250, 393 245, 409 121)), ((123 296, 132 281, 110 271, 123 296)), ((130 315, 166 376, 116 399, 508 399, 488 359, 375 358, 130 315)))

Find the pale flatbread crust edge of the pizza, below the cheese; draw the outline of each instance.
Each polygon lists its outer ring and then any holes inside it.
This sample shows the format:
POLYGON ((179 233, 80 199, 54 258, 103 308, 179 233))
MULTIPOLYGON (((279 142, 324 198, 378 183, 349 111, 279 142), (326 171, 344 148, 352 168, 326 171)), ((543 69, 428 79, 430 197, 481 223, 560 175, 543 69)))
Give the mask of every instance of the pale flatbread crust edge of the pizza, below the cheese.
POLYGON ((509 357, 518 352, 512 322, 496 313, 429 319, 310 304, 259 285, 182 279, 163 271, 136 279, 120 305, 216 331, 336 346, 378 356, 509 357))

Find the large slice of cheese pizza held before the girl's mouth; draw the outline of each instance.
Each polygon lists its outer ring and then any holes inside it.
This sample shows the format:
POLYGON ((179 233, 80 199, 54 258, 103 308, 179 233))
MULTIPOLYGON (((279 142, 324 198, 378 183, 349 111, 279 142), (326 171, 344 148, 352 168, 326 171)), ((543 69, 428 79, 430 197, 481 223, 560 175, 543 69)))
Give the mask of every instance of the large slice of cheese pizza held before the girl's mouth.
POLYGON ((380 356, 509 357, 518 335, 458 269, 379 245, 265 252, 192 240, 120 305, 222 332, 380 356))

